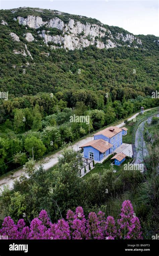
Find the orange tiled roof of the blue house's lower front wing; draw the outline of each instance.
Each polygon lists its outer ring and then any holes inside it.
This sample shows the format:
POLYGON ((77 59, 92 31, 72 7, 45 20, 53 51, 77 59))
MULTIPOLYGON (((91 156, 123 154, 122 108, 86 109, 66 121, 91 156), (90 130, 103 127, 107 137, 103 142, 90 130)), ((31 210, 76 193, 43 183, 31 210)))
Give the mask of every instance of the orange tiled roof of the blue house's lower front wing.
POLYGON ((95 139, 87 142, 79 148, 84 148, 88 146, 92 146, 93 148, 99 150, 101 153, 104 153, 105 151, 113 147, 112 144, 110 144, 108 141, 105 141, 104 139, 95 139))

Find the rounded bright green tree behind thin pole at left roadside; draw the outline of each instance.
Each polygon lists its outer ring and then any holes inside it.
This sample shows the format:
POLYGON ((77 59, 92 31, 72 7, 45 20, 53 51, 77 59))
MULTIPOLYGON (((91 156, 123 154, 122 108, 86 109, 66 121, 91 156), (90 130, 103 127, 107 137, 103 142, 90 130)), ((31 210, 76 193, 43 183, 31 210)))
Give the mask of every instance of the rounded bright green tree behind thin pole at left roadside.
POLYGON ((41 139, 35 136, 27 137, 24 141, 24 148, 29 151, 29 155, 32 156, 32 148, 34 149, 34 159, 40 158, 44 155, 46 148, 41 139))

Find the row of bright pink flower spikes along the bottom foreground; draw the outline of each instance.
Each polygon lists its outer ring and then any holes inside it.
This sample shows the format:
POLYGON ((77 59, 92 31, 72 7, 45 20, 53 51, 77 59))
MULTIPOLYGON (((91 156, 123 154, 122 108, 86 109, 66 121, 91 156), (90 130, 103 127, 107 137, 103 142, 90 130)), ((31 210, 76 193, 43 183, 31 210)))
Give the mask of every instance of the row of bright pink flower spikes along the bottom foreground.
POLYGON ((10 217, 5 217, 0 235, 7 235, 8 239, 142 239, 140 221, 133 213, 131 202, 124 201, 117 231, 114 218, 105 218, 101 211, 90 212, 86 220, 83 208, 78 206, 75 213, 67 211, 66 220, 59 219, 52 224, 47 212, 42 210, 30 227, 23 219, 15 224, 10 217))

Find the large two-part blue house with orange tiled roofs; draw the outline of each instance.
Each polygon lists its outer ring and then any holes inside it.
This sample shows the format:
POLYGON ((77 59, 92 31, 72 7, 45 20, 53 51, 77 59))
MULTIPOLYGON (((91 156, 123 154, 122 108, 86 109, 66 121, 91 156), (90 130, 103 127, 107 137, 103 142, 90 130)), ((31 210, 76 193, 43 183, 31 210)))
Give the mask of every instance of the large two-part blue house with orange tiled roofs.
POLYGON ((113 126, 94 134, 94 140, 80 148, 84 149, 84 157, 100 161, 114 152, 122 144, 122 129, 113 126))

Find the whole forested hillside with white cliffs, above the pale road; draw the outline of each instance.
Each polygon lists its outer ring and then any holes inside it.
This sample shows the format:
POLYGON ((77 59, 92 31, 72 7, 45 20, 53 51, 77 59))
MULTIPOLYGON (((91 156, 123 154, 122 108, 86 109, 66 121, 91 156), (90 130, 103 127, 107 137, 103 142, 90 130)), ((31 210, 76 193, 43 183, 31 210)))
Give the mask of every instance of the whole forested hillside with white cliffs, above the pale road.
POLYGON ((157 50, 157 37, 95 19, 0 10, 0 91, 8 93, 0 99, 0 174, 23 165, 32 148, 38 159, 117 115, 157 106, 157 50), (88 115, 90 125, 70 123, 74 114, 88 115))

